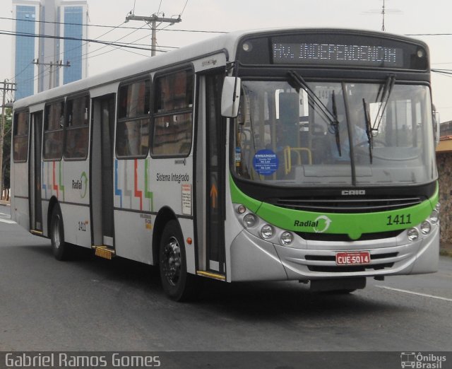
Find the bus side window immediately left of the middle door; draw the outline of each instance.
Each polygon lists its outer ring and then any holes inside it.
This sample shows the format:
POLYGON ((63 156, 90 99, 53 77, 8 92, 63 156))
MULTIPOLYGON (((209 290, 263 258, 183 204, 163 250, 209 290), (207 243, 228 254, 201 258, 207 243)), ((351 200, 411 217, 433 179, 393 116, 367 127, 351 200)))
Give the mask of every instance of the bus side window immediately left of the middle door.
POLYGON ((85 159, 88 156, 89 106, 88 95, 66 100, 64 158, 85 159))

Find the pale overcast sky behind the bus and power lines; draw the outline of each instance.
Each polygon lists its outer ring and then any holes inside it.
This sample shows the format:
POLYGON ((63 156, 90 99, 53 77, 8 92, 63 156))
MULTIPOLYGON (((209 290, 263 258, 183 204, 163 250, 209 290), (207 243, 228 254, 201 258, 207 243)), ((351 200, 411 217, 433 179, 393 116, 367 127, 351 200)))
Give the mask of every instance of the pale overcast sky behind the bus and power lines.
MULTIPOLYGON (((0 0, 0 31, 12 30, 11 0, 0 0)), ((383 0, 88 0, 90 25, 121 25, 143 27, 142 30, 90 26, 91 39, 136 42, 150 45, 150 28, 142 21, 124 23, 132 12, 136 16, 165 13, 166 18, 181 15, 182 22, 163 23, 157 32, 160 49, 183 47, 215 37, 217 32, 278 27, 333 27, 381 30, 383 0), (124 24, 123 24, 124 23, 124 24), (203 33, 187 30, 210 31, 203 33), (107 33, 108 32, 108 33, 107 33), (106 33, 106 34, 105 34, 106 33), (124 38, 121 38, 124 37, 124 38)), ((433 69, 452 71, 452 1, 451 0, 386 0, 384 24, 387 33, 412 36, 427 42, 433 69), (451 33, 451 35, 419 34, 451 33)), ((160 14, 160 16, 163 16, 160 14)), ((0 57, 0 81, 13 79, 11 75, 12 37, 0 35, 4 50, 0 57)), ((144 46, 144 45, 143 45, 144 46)), ((117 49, 91 43, 89 46, 90 76, 120 68, 133 61, 150 57, 145 50, 117 49)), ((452 75, 432 74, 432 95, 441 122, 452 120, 452 75)))

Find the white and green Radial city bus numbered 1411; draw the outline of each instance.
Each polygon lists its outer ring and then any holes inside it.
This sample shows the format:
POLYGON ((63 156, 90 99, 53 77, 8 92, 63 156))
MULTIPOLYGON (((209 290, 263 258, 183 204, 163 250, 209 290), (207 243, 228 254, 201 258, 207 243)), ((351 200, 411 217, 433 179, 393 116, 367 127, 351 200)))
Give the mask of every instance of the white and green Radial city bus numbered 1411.
POLYGON ((364 30, 240 31, 13 105, 11 216, 202 278, 349 293, 439 261, 429 50, 364 30))

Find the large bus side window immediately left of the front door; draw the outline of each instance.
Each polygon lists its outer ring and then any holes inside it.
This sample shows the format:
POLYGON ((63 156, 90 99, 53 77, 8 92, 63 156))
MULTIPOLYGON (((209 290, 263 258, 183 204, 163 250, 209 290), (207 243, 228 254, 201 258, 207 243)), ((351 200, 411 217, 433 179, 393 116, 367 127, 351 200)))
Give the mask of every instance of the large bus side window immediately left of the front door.
POLYGON ((193 131, 192 71, 155 79, 153 156, 187 156, 193 131))

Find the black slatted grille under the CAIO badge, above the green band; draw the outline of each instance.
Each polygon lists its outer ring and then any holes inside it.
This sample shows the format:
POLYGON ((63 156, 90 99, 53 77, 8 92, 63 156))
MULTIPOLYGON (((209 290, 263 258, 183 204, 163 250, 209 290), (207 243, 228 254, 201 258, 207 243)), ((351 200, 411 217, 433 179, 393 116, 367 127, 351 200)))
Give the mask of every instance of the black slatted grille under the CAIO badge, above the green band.
POLYGON ((403 209, 420 204, 421 197, 343 197, 323 199, 276 199, 273 203, 286 209, 316 211, 320 213, 367 213, 403 209))

